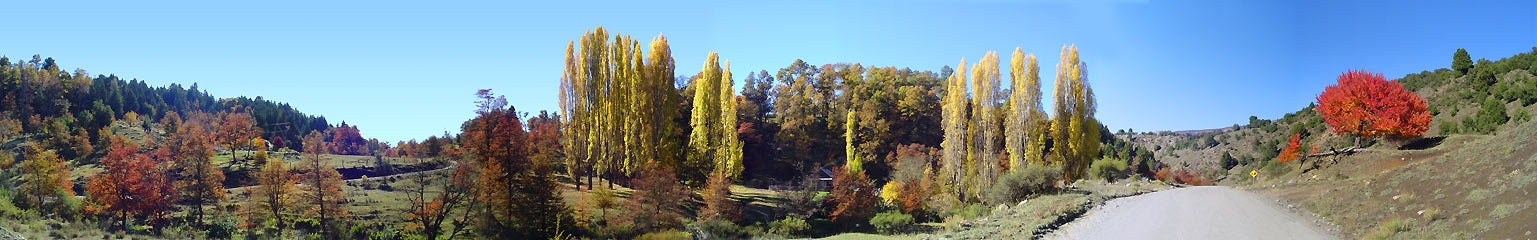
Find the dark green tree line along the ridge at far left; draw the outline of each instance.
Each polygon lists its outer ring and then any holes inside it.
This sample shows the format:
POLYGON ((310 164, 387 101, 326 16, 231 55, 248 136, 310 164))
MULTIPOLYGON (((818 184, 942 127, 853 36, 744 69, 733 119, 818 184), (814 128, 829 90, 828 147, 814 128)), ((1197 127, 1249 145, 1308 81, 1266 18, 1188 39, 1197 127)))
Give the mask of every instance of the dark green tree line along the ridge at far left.
POLYGON ((63 120, 66 128, 86 129, 86 138, 100 142, 105 138, 94 129, 131 112, 138 120, 157 120, 166 112, 221 112, 234 108, 249 108, 244 112, 254 117, 254 125, 267 129, 261 137, 269 140, 298 140, 304 132, 330 128, 324 117, 307 115, 287 103, 261 97, 215 98, 197 83, 188 88, 178 83, 149 86, 137 78, 91 77, 85 69, 61 71, 54 58, 41 55, 17 62, 0 57, 0 109, 5 109, 0 120, 18 123, 18 128, 11 128, 12 134, 43 132, 49 120, 63 120))

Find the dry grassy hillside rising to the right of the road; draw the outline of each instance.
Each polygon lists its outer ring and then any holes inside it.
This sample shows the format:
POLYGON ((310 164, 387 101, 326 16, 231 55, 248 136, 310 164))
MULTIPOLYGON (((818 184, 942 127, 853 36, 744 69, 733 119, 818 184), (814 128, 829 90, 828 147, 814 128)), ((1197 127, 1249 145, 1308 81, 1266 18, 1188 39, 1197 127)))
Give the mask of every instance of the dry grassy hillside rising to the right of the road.
MULTIPOLYGON (((1202 172, 1219 185, 1251 188, 1300 205, 1354 237, 1522 238, 1537 211, 1525 198, 1537 178, 1537 48, 1497 62, 1408 74, 1397 82, 1429 103, 1420 140, 1337 135, 1314 106, 1277 120, 1251 117, 1231 131, 1117 134, 1154 151, 1157 162, 1202 172), (1302 151, 1348 146, 1366 152, 1297 163, 1274 158, 1285 138, 1302 151), (1223 155, 1231 155, 1223 157, 1223 155), (1227 162, 1227 165, 1223 165, 1227 162), (1254 171, 1257 177, 1250 177, 1254 171)), ((1319 89, 1322 91, 1322 89, 1319 89)))

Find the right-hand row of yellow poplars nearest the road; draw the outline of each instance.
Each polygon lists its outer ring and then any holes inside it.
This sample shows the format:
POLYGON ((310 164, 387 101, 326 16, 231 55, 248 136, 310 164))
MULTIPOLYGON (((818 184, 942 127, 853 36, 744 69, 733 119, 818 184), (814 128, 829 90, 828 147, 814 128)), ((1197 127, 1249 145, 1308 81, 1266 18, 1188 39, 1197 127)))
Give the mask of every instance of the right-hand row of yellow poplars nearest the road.
POLYGON ((1062 48, 1050 117, 1034 54, 1016 48, 1010 65, 1008 91, 999 85, 996 52, 971 65, 970 82, 965 60, 945 80, 941 172, 945 191, 961 200, 981 198, 994 178, 1027 165, 1062 168, 1067 182, 1084 178, 1099 154, 1094 89, 1077 46, 1062 48))

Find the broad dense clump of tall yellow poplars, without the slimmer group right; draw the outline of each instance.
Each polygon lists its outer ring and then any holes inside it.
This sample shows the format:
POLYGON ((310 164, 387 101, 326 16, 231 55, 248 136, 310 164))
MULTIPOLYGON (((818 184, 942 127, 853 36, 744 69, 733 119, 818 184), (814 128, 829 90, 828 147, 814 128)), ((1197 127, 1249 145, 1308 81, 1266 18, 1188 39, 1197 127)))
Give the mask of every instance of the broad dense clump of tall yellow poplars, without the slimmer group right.
POLYGON ((678 102, 667 38, 653 38, 647 54, 632 37, 607 34, 599 26, 567 43, 561 75, 566 171, 587 174, 589 188, 595 175, 629 175, 682 146, 667 142, 678 102))

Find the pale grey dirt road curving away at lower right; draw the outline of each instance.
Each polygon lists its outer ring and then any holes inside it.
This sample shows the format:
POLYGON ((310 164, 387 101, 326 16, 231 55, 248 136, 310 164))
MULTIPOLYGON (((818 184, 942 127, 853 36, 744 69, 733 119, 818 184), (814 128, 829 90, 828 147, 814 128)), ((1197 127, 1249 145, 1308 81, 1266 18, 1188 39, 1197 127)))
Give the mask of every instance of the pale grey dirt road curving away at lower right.
POLYGON ((1303 214, 1254 192, 1194 186, 1105 202, 1047 238, 1339 238, 1303 214))

